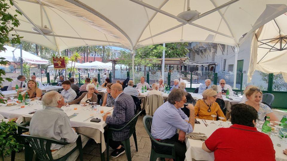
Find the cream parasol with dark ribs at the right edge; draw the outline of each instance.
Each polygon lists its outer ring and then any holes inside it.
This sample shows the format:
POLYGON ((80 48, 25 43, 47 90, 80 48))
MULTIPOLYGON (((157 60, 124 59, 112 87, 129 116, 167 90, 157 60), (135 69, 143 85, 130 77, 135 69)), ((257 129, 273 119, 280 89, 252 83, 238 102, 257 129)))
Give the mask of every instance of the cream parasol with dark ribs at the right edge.
POLYGON ((251 45, 251 61, 248 82, 255 70, 265 73, 282 74, 287 82, 287 13, 274 18, 260 27, 251 45))

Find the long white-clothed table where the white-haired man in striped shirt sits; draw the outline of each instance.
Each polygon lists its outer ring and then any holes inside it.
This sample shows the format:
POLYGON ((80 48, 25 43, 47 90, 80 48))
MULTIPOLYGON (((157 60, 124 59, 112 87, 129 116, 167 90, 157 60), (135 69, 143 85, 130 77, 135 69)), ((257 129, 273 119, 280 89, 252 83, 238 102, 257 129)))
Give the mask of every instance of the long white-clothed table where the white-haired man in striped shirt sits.
MULTIPOLYGON (((10 103, 10 102, 8 102, 10 103)), ((23 106, 24 104, 22 104, 23 106)), ((29 112, 35 112, 39 109, 43 109, 43 105, 41 101, 31 101, 30 106, 24 105, 24 108, 21 108, 20 105, 14 106, 7 106, 2 105, 0 106, 0 114, 3 115, 5 118, 18 118, 16 123, 22 123, 26 121, 30 121, 33 117, 33 114, 29 114, 29 112)), ((70 118, 71 126, 75 127, 76 132, 79 134, 86 135, 95 140, 96 143, 101 143, 101 153, 103 153, 106 149, 105 139, 104 139, 104 127, 107 125, 103 121, 103 117, 101 114, 96 113, 95 110, 92 110, 91 105, 81 106, 78 104, 73 104, 70 106, 63 106, 62 109, 64 112, 71 116, 76 114, 77 116, 70 118), (99 123, 90 122, 91 118, 100 118, 102 119, 99 123), (88 119, 88 120, 86 120, 88 119), (84 121, 86 120, 86 121, 84 121)), ((110 112, 109 115, 112 114, 113 108, 112 107, 103 107, 98 106, 100 110, 103 110, 104 113, 110 112)))

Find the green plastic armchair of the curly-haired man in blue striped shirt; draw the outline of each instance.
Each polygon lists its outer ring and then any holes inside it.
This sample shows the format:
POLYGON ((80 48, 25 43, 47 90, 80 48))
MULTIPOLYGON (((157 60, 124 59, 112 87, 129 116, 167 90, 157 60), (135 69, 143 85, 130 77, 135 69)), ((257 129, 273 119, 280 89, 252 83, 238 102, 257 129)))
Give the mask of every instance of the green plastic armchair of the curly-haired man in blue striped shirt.
POLYGON ((172 159, 176 158, 176 160, 179 160, 178 157, 176 157, 176 155, 175 155, 174 144, 161 143, 161 142, 155 140, 155 138, 150 133, 151 128, 152 128, 152 116, 148 116, 148 115, 144 116, 143 123, 144 123, 144 128, 146 129, 147 134, 149 134, 149 138, 150 138, 151 142, 154 142, 154 143, 161 145, 161 146, 172 147, 171 155, 167 155, 167 154, 160 154, 160 153, 155 152, 155 147, 152 146, 149 161, 155 161, 158 158, 172 158, 172 159))

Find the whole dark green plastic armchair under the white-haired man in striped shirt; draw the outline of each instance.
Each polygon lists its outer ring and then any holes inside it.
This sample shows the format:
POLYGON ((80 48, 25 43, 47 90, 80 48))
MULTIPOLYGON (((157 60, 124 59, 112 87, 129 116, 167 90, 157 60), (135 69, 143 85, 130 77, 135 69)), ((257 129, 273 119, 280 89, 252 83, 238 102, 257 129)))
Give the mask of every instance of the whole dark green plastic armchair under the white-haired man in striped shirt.
MULTIPOLYGON (((59 145, 66 145, 69 144, 67 142, 62 142, 54 139, 49 139, 45 137, 35 137, 31 135, 24 135, 21 136, 25 137, 25 139, 28 141, 28 143, 32 146, 31 148, 36 153, 36 160, 40 161, 54 161, 52 157, 51 152, 51 144, 59 144, 59 145), (44 145, 46 143, 46 145, 44 145)), ((83 161, 83 148, 82 148, 82 140, 81 135, 78 134, 78 138, 76 140, 77 146, 72 149, 68 154, 66 154, 64 157, 57 159, 57 161, 65 161, 74 151, 79 149, 79 156, 80 160, 83 161)))

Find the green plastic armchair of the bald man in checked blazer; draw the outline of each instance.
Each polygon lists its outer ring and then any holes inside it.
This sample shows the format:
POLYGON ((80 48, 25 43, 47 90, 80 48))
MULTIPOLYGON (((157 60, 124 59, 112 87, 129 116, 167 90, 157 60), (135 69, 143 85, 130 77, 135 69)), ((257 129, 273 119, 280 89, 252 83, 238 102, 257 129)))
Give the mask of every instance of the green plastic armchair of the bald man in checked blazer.
MULTIPOLYGON (((135 133, 135 124, 138 121, 138 116, 141 113, 138 112, 124 127, 120 129, 115 129, 115 128, 108 128, 109 131, 107 131, 107 160, 109 161, 109 139, 112 139, 112 131, 121 131, 122 129, 126 128, 126 126, 129 126, 129 138, 133 135, 134 140, 135 140, 135 149, 138 151, 138 143, 137 143, 137 135, 135 133)), ((128 158, 128 161, 132 161, 132 156, 131 156, 131 145, 129 138, 126 140, 121 141, 123 143, 123 147, 125 148, 126 151, 126 157, 128 158)))

